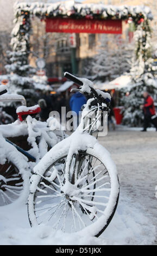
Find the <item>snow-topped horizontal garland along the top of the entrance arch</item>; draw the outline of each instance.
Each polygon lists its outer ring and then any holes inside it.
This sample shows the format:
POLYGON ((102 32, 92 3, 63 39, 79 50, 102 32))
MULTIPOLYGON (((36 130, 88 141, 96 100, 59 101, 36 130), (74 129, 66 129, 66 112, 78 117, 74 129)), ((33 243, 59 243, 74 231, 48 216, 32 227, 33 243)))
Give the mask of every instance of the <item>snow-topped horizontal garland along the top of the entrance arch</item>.
POLYGON ((141 19, 152 20, 150 9, 146 6, 104 5, 104 4, 72 4, 72 3, 18 3, 15 5, 15 16, 21 16, 22 11, 28 11, 39 17, 74 17, 81 19, 128 19, 132 17, 135 23, 141 19))

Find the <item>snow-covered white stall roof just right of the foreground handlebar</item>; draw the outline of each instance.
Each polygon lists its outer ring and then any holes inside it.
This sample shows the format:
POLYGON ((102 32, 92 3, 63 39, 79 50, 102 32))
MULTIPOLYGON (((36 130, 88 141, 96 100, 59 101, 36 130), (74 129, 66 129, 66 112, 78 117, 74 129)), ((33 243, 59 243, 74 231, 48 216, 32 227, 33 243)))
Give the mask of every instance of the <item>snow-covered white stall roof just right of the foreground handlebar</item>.
POLYGON ((127 75, 122 75, 120 77, 117 77, 115 80, 112 80, 111 82, 97 82, 94 84, 94 87, 96 89, 101 89, 101 90, 112 90, 112 89, 121 89, 123 87, 129 86, 131 82, 131 77, 127 75))

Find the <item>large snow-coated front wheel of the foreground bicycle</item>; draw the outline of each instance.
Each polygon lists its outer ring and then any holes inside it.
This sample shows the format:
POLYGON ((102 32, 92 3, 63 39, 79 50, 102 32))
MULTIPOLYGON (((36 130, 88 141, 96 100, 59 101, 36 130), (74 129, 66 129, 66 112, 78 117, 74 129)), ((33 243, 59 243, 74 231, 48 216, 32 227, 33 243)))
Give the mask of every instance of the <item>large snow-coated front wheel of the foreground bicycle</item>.
POLYGON ((99 236, 108 227, 118 203, 114 163, 101 145, 87 148, 72 156, 69 181, 65 183, 66 155, 32 176, 30 225, 44 223, 66 233, 99 236))

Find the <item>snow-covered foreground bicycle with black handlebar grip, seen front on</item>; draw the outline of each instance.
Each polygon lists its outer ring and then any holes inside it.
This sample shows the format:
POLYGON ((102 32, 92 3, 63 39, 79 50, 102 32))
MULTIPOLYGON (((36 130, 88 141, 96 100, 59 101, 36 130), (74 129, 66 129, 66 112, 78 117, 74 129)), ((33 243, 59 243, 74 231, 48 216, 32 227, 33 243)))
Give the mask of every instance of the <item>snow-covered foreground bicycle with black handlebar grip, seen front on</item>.
POLYGON ((77 130, 34 167, 28 197, 29 222, 32 226, 52 225, 66 233, 99 236, 114 216, 119 197, 116 166, 109 152, 92 136, 100 111, 109 111, 111 97, 95 90, 85 78, 68 72, 65 76, 80 85, 73 92, 90 99, 77 130))

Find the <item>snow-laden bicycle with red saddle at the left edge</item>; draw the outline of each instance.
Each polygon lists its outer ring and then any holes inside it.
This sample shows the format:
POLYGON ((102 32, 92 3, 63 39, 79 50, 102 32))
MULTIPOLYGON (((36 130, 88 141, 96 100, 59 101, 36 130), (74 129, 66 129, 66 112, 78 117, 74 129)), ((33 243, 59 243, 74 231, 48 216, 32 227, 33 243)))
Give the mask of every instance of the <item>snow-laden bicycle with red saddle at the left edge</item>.
MULTIPOLYGON (((1 86, 0 95, 6 92, 1 86)), ((35 118, 40 111, 39 105, 27 107, 21 95, 2 96, 0 100, 20 101, 23 106, 16 109, 18 120, 0 125, 0 206, 17 200, 27 202, 33 167, 50 148, 65 138, 64 131, 56 131, 53 118, 46 122, 35 118)))

